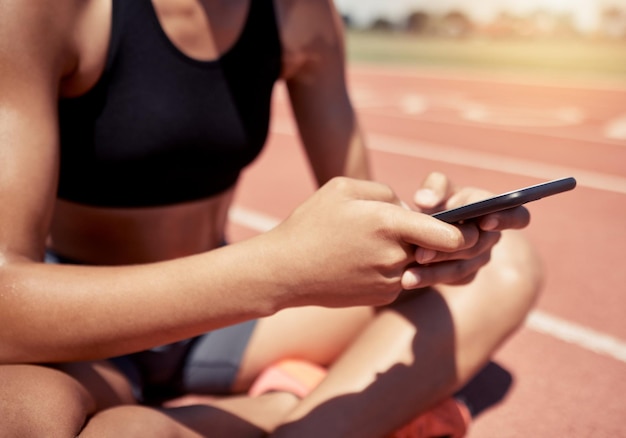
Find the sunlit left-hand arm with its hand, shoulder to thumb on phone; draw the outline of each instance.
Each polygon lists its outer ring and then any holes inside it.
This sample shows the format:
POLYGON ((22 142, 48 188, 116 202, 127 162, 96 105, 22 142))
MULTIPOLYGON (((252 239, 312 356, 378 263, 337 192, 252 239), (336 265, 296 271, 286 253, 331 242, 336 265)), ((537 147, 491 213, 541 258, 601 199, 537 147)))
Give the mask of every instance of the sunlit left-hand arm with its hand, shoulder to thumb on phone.
MULTIPOLYGON (((336 179, 243 243, 145 265, 42 263, 59 167, 58 89, 80 65, 71 29, 87 3, 0 2, 0 363, 115 356, 289 306, 387 304, 413 245, 475 245, 471 226, 409 212, 381 184, 336 179)), ((318 170, 321 179, 336 173, 318 170)))

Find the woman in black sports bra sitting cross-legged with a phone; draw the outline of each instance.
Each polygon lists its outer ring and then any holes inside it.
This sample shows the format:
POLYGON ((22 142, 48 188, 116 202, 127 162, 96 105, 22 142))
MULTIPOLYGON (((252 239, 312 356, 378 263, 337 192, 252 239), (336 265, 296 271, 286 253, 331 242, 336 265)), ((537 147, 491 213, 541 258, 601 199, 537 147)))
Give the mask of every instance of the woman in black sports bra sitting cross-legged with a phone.
POLYGON ((5 0, 0 41, 0 361, 56 364, 0 367, 8 434, 386 436, 535 299, 525 209, 452 226, 364 181, 330 0, 5 0), (278 79, 322 187, 224 246, 278 79), (328 375, 246 395, 294 357, 328 375))

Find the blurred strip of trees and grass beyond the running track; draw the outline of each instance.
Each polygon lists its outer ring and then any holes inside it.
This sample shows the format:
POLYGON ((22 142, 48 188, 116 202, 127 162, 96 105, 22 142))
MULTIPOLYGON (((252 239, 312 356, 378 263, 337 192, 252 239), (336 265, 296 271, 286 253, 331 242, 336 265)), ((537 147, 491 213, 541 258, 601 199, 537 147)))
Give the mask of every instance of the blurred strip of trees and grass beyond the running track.
POLYGON ((626 81, 625 0, 336 0, 353 61, 626 81))

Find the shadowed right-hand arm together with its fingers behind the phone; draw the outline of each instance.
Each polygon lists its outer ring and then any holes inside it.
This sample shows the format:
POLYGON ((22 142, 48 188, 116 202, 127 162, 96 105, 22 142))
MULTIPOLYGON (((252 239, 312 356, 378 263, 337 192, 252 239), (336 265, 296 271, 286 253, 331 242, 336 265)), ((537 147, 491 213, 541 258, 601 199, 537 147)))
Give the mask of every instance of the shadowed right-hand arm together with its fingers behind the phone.
MULTIPOLYGON (((279 2, 285 68, 289 95, 300 136, 319 184, 345 175, 354 178, 371 177, 363 135, 350 102, 345 78, 345 48, 342 23, 332 1, 301 0, 279 2)), ((437 179, 437 176, 434 177, 437 179)), ((427 190, 416 198, 420 211, 428 211, 429 202, 443 202, 452 195, 453 187, 445 175, 439 182, 428 177, 426 187, 438 185, 450 193, 427 190), (431 199, 432 198, 432 199, 431 199)), ((418 193, 422 193, 420 191, 418 193)), ((465 189, 464 196, 480 197, 485 192, 465 189)), ((463 203, 456 196, 451 202, 463 203)), ((466 278, 456 277, 452 282, 465 282, 488 260, 491 248, 500 239, 499 231, 523 228, 528 225, 528 212, 519 208, 515 212, 490 215, 481 222, 483 232, 477 245, 461 252, 443 251, 437 254, 426 248, 417 248, 417 265, 411 266, 403 276, 407 289, 449 282, 449 270, 471 272, 466 278), (498 221, 497 226, 484 228, 487 220, 498 221), (432 257, 432 258, 431 258, 432 257), (432 262, 452 260, 453 263, 434 265, 432 262), (430 263, 428 267, 424 265, 430 263), (460 267, 466 265, 465 267, 460 267), (468 268, 467 265, 473 265, 468 268)), ((511 232, 505 233, 505 240, 511 232)))

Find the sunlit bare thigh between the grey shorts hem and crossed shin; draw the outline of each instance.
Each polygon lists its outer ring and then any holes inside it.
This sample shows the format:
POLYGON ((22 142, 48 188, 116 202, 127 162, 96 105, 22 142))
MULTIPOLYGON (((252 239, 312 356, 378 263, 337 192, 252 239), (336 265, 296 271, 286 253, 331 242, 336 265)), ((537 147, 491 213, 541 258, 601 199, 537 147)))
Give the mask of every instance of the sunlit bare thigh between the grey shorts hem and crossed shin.
POLYGON ((245 391, 268 365, 285 358, 335 361, 372 321, 370 307, 299 307, 259 320, 241 361, 234 392, 245 391))

